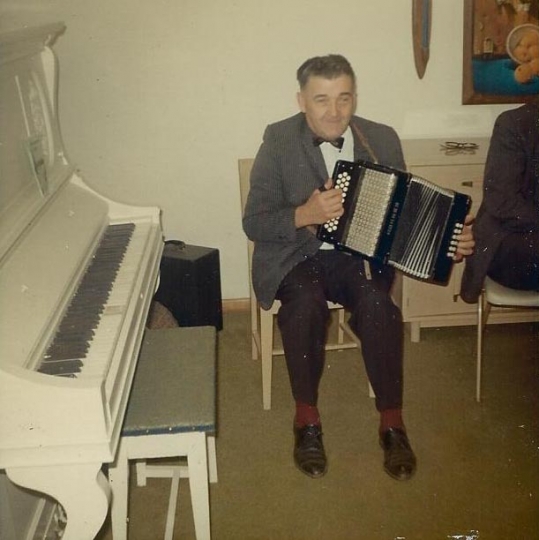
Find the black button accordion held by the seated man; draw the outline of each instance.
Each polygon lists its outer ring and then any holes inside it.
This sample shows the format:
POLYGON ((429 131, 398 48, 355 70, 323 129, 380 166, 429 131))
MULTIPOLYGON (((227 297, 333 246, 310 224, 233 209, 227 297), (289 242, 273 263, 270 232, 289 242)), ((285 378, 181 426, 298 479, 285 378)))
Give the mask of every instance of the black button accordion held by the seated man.
POLYGON ((318 226, 319 240, 411 277, 447 283, 468 195, 366 161, 337 161, 333 185, 342 190, 344 214, 318 226))

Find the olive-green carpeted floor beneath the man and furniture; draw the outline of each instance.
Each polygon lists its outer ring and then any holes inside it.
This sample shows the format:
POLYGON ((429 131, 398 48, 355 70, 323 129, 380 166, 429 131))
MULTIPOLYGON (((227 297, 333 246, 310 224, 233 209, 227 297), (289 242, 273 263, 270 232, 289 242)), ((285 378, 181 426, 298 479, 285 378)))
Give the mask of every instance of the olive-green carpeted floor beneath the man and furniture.
MULTIPOLYGON (((378 415, 357 351, 328 353, 320 408, 329 472, 292 463, 292 404, 282 358, 263 411, 247 314, 219 333, 219 482, 213 540, 535 540, 539 538, 539 324, 487 328, 483 401, 475 402, 475 329, 407 339, 405 420, 418 471, 382 470, 378 415)), ((130 540, 163 538, 169 481, 131 490, 130 540)), ((110 540, 108 523, 99 540, 110 540)), ((194 539, 181 481, 177 540, 194 539)))

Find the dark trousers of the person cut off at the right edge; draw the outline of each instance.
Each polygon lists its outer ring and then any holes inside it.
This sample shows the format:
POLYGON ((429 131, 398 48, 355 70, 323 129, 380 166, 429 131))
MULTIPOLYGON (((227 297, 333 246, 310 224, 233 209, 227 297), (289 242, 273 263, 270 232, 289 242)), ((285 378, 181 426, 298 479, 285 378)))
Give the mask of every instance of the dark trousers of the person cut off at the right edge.
POLYGON ((521 290, 539 290, 539 231, 506 236, 490 263, 488 275, 521 290))

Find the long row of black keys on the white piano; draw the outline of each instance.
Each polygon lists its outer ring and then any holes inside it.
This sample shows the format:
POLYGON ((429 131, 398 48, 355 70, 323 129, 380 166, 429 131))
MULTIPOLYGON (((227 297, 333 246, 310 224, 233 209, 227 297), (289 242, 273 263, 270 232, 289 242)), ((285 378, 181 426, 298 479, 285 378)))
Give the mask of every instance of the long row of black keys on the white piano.
POLYGON ((38 367, 40 373, 72 377, 81 372, 134 230, 134 223, 125 223, 105 231, 38 367))

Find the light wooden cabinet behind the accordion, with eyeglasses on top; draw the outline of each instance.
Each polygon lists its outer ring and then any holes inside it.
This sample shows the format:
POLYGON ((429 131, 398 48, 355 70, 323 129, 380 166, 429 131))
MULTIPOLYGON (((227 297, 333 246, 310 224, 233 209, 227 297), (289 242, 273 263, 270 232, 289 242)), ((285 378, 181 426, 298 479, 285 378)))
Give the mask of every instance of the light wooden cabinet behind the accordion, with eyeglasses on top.
MULTIPOLYGON (((478 145, 474 152, 446 152, 442 139, 408 139, 402 141, 408 170, 440 186, 467 193, 472 197, 472 213, 482 199, 483 170, 488 151, 488 139, 467 138, 478 145)), ((476 324, 476 304, 467 304, 459 296, 464 263, 455 264, 445 286, 423 283, 400 276, 395 284, 394 298, 399 304, 411 340, 419 341, 421 328, 476 324)), ((529 310, 493 309, 489 323, 537 320, 529 310)))

